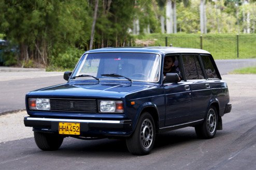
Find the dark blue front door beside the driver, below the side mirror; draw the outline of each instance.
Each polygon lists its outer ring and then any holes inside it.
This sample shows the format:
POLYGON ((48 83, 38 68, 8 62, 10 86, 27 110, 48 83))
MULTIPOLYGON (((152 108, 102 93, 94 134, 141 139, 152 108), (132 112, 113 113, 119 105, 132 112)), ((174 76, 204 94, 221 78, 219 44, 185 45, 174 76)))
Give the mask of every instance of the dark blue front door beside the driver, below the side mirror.
MULTIPOLYGON (((176 70, 182 74, 180 61, 180 55, 176 55, 176 70)), ((191 94, 190 86, 188 82, 181 79, 178 83, 164 84, 165 90, 165 126, 177 125, 188 121, 188 116, 191 112, 191 94)))

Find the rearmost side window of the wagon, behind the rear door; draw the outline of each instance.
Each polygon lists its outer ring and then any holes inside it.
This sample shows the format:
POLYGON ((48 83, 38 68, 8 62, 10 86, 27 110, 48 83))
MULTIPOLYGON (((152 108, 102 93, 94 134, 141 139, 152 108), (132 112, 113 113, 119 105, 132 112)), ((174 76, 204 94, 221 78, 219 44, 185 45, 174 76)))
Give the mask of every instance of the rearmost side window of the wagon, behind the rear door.
POLYGON ((201 55, 201 59, 208 79, 219 79, 210 57, 208 55, 201 55))

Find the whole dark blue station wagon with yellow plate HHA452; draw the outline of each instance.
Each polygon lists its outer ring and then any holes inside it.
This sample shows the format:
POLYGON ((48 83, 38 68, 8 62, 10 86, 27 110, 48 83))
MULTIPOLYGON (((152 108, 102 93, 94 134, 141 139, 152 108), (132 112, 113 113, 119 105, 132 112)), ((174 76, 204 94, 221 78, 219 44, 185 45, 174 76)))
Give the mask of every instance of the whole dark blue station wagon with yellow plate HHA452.
POLYGON ((33 127, 42 150, 59 149, 64 137, 121 137, 132 154, 144 155, 164 131, 194 127, 198 137, 214 137, 232 108, 227 84, 205 50, 91 50, 64 79, 26 94, 24 124, 33 127), (164 73, 167 57, 173 71, 164 73))

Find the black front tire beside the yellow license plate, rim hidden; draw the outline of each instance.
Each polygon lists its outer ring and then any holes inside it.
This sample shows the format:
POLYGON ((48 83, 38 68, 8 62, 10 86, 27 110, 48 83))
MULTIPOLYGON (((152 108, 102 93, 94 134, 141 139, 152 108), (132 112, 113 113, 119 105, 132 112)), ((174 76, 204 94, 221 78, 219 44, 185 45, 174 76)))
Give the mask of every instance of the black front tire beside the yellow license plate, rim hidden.
POLYGON ((42 132, 34 132, 34 138, 37 147, 45 151, 59 149, 64 139, 59 135, 42 132))

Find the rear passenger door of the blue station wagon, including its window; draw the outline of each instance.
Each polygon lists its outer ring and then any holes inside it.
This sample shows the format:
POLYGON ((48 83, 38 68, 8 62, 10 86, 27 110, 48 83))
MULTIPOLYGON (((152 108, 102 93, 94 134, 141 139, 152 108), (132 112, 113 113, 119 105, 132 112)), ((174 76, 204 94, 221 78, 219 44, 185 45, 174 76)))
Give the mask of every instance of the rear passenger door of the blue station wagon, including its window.
POLYGON ((211 99, 210 83, 206 79, 198 54, 183 54, 182 61, 192 98, 192 109, 188 121, 200 120, 204 118, 211 99))

